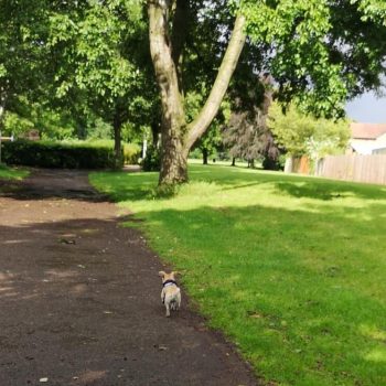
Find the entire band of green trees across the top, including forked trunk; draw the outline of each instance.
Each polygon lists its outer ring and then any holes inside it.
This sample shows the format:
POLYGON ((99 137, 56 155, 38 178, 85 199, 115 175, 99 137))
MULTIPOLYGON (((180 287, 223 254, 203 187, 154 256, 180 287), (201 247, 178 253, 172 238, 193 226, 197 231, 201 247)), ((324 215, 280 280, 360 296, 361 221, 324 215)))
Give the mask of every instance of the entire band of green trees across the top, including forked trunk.
POLYGON ((253 163, 293 152, 294 137, 301 151, 342 146, 344 125, 293 111, 339 119, 379 87, 385 20, 375 0, 1 0, 0 125, 114 138, 117 167, 122 139, 160 139, 167 185, 187 180, 194 147, 253 163))

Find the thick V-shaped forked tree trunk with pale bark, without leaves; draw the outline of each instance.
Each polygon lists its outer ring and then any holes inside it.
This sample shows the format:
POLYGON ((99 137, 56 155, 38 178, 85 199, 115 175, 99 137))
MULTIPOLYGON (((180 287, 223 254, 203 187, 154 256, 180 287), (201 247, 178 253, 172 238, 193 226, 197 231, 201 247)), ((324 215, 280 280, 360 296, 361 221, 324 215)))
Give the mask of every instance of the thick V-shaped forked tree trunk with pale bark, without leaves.
MULTIPOLYGON (((184 3, 186 0, 179 0, 176 7, 181 7, 182 10, 184 3)), ((178 68, 178 58, 182 46, 175 44, 175 50, 172 46, 175 39, 171 39, 169 34, 170 4, 171 2, 168 0, 148 0, 150 52, 161 92, 163 116, 160 185, 187 181, 189 151, 216 116, 246 40, 245 18, 238 15, 208 99, 197 118, 187 125, 183 108, 181 79, 179 82, 178 75, 181 74, 178 68)), ((186 13, 179 13, 180 18, 184 14, 186 13)), ((176 23, 176 25, 183 25, 183 23, 176 23)), ((179 34, 174 33, 173 36, 179 36, 179 34)))

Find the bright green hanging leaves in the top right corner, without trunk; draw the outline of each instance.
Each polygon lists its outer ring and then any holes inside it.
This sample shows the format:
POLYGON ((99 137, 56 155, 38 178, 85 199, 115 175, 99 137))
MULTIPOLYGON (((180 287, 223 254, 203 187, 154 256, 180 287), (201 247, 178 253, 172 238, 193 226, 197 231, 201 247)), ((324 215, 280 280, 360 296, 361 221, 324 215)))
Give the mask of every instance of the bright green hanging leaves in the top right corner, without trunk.
POLYGON ((385 74, 383 1, 242 2, 248 33, 270 47, 266 67, 279 98, 321 116, 343 115, 344 101, 380 85, 385 74))

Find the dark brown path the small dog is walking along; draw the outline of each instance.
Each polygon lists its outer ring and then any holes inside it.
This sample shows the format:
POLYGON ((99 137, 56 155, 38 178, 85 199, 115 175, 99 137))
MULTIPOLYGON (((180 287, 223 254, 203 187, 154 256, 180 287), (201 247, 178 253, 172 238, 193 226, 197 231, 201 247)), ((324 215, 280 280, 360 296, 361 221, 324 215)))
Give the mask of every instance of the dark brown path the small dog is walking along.
POLYGON ((158 257, 86 172, 40 170, 4 187, 1 386, 256 385, 185 299, 164 318, 158 257))

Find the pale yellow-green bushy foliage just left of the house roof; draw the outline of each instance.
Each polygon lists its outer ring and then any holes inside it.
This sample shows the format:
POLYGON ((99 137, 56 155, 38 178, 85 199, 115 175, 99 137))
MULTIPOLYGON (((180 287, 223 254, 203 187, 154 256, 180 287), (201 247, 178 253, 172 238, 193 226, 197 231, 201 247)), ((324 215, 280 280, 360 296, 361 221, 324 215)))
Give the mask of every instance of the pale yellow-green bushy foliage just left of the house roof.
POLYGON ((285 114, 278 104, 274 104, 269 110, 268 126, 278 144, 288 153, 308 154, 313 160, 342 153, 351 136, 347 120, 317 119, 302 114, 293 105, 285 114))

